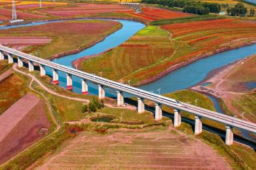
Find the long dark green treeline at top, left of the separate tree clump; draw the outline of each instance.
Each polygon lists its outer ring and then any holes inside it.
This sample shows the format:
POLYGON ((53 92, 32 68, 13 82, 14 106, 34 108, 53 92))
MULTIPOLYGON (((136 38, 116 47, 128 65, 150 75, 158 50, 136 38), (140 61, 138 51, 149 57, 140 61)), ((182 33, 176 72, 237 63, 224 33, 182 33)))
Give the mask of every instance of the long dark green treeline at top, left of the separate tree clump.
POLYGON ((159 4, 161 6, 169 6, 171 8, 183 8, 183 12, 195 13, 198 15, 206 15, 208 13, 219 13, 220 4, 202 3, 192 0, 142 0, 144 4, 159 4))

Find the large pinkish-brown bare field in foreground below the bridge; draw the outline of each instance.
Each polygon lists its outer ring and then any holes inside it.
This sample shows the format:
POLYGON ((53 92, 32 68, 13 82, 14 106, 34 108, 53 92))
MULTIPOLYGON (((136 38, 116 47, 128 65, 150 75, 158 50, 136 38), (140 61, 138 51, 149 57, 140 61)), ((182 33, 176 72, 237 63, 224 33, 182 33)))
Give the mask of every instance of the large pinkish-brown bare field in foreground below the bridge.
POLYGON ((200 140, 170 130, 82 132, 38 169, 230 169, 200 140))

